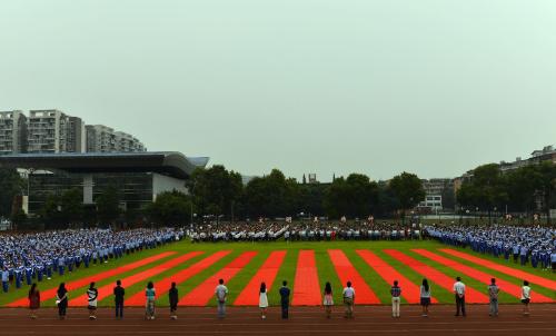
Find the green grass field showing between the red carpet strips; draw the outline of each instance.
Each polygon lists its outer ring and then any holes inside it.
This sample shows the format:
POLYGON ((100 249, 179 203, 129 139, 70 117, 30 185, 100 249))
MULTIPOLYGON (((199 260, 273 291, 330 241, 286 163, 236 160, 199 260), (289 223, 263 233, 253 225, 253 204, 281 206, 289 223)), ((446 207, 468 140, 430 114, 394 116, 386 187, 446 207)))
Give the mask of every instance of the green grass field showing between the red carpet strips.
MULTIPOLYGON (((324 288, 324 284, 326 281, 330 281, 334 288, 335 293, 335 302, 338 304, 341 302, 341 288, 344 287, 345 284, 340 284, 339 277, 336 274, 336 269, 330 260, 330 257, 327 253, 328 249, 341 249, 348 259, 351 261, 354 267, 358 270, 358 273, 363 276, 363 278, 366 280, 366 283, 369 285, 369 287, 375 291, 375 294, 378 296, 380 299, 381 304, 389 304, 390 303, 390 294, 389 294, 389 288, 391 284, 388 284, 386 280, 381 278, 381 276, 373 269, 367 263, 356 253, 357 249, 369 249, 374 251, 379 258, 385 260, 387 264, 393 266, 396 270, 401 273, 405 277, 407 277, 409 280, 411 280, 414 284, 420 285, 420 281, 423 279, 423 276, 413 270, 410 267, 407 265, 404 265, 403 263, 396 260, 395 258, 390 257, 386 253, 384 253, 384 249, 397 249, 407 256, 410 256, 417 260, 420 260, 437 270, 446 274, 447 276, 455 278, 456 276, 460 275, 465 281, 465 284, 468 287, 475 288, 481 293, 486 293, 486 286, 487 284, 478 281, 476 279, 473 279, 466 275, 458 274, 457 270, 443 266, 438 263, 435 263, 428 258, 425 258, 414 251, 411 251, 413 248, 423 248, 427 249, 430 251, 434 251, 438 255, 441 255, 446 258, 455 259, 460 264, 468 265, 474 267, 477 270, 487 273, 489 275, 495 276, 496 278, 504 279, 508 283, 515 284, 520 286, 522 279, 515 278, 513 276, 508 276, 505 274, 502 274, 499 271, 489 269, 487 267, 484 267, 481 265, 476 265, 463 259, 458 259, 456 257, 451 257, 447 254, 444 254, 438 250, 438 248, 445 248, 447 246, 438 244, 436 241, 430 241, 430 240, 411 240, 411 241, 315 241, 315 243, 308 243, 308 241, 296 241, 296 243, 284 243, 284 241, 276 241, 276 243, 230 243, 230 244, 225 244, 225 243, 218 243, 218 244, 191 244, 190 241, 180 241, 171 245, 163 246, 161 248, 157 249, 150 249, 150 250, 143 250, 141 253, 136 253, 129 256, 126 256, 125 258, 117 259, 117 260, 110 260, 108 264, 102 264, 102 265, 96 265, 90 268, 83 268, 81 267, 80 269, 73 271, 72 274, 67 274, 63 277, 59 277, 58 275, 54 275, 51 280, 43 280, 42 283, 39 283, 39 289, 40 290, 46 290, 51 287, 56 287, 60 281, 66 281, 66 283, 71 283, 72 280, 80 279, 80 278, 87 278, 87 277, 93 277, 96 274, 106 271, 110 268, 115 267, 120 267, 126 264, 130 264, 136 260, 140 260, 142 258, 146 258, 148 256, 157 255, 160 254, 161 251, 166 250, 171 250, 171 251, 177 251, 176 255, 169 256, 166 258, 162 258, 160 260, 157 260, 152 264, 139 267, 137 269, 133 269, 132 271, 129 271, 128 274, 121 274, 116 277, 109 277, 106 279, 102 279, 97 283, 98 287, 102 287, 105 285, 111 285, 113 284, 117 279, 122 279, 123 285, 126 287, 127 291, 127 297, 130 297, 135 293, 142 291, 145 288, 145 285, 147 281, 140 281, 138 284, 131 285, 131 286, 126 286, 126 277, 131 276, 133 274, 138 274, 142 270, 150 269, 157 265, 163 264, 165 261, 168 261, 169 259, 172 259, 179 255, 182 255, 188 251, 205 251, 205 254, 193 257, 192 259, 180 264, 179 266, 171 268, 171 269, 165 269, 160 274, 157 274, 150 278, 157 284, 157 281, 170 277, 177 271, 181 269, 186 269, 189 266, 193 265, 195 263, 206 258, 209 256, 211 253, 218 251, 218 250, 225 250, 229 249, 231 253, 214 265, 209 266, 208 268, 203 269, 199 274, 192 276, 191 278, 187 279, 186 281, 179 284, 178 289, 180 291, 180 296, 183 296, 185 294, 189 293, 197 286, 199 286, 205 279, 217 273, 219 269, 221 269, 224 266, 229 264, 231 260, 234 260, 236 257, 238 257, 240 254, 244 251, 249 251, 249 250, 255 250, 258 251, 258 254, 249 261, 249 264, 240 269, 237 275, 231 278, 229 281, 227 281, 227 286, 230 290, 229 295, 229 303, 232 303, 239 293, 245 288, 245 286, 249 283, 249 280, 252 278, 252 276, 257 273, 259 267, 265 263, 266 258, 268 255, 274 251, 274 250, 287 250, 286 257, 284 259, 284 263, 281 267, 278 269, 278 275, 276 277, 275 284, 272 286, 271 291, 269 293, 269 303, 270 305, 277 305, 279 303, 279 295, 278 295, 278 287, 281 280, 287 280, 288 285, 290 288, 295 288, 295 275, 296 275, 296 267, 297 267, 297 261, 298 261, 298 253, 300 249, 309 249, 309 250, 315 250, 315 256, 316 256, 316 261, 317 261, 317 271, 318 271, 318 277, 320 281, 321 288, 324 288)), ((473 253, 469 249, 460 249, 463 251, 466 251, 470 255, 478 256, 488 260, 496 261, 502 265, 507 265, 510 267, 515 267, 517 269, 522 269, 524 271, 527 271, 533 275, 542 276, 547 279, 556 280, 556 275, 553 274, 552 271, 546 271, 542 270, 538 268, 533 268, 530 266, 525 266, 520 267, 513 261, 506 261, 502 258, 494 258, 489 255, 480 255, 473 253)), ((216 284, 215 284, 216 286, 216 284)), ((532 285, 534 293, 547 296, 549 298, 553 298, 553 300, 556 300, 556 288, 545 288, 542 286, 536 286, 535 284, 532 285)), ((439 303, 441 304, 451 304, 454 298, 453 294, 448 290, 445 289, 438 285, 436 285, 434 281, 431 283, 431 288, 433 288, 433 295, 435 298, 438 299, 439 303)), ((257 290, 258 288, 252 288, 252 290, 257 290)), ((356 288, 357 289, 357 288, 356 288)), ((10 287, 10 291, 8 294, 0 293, 0 306, 4 306, 11 302, 14 302, 19 298, 23 298, 27 296, 27 290, 28 286, 23 285, 22 288, 16 289, 13 286, 10 287)), ((83 296, 85 295, 86 288, 79 288, 76 290, 71 290, 69 293, 70 299, 76 298, 78 296, 83 296)), ((294 291, 294 290, 292 290, 294 291)), ((502 293, 499 297, 500 303, 518 303, 518 299, 507 293, 502 293)), ((533 302, 535 298, 533 298, 533 302)), ((403 300, 405 303, 405 300, 403 300)), ((42 303, 43 306, 54 306, 54 299, 48 299, 42 303)), ((112 297, 109 296, 105 299, 102 299, 99 303, 99 306, 111 306, 112 305, 112 297)), ((166 295, 162 295, 161 297, 158 298, 158 305, 165 306, 168 305, 168 298, 166 295)), ((208 305, 214 305, 214 302, 210 300, 208 305)))

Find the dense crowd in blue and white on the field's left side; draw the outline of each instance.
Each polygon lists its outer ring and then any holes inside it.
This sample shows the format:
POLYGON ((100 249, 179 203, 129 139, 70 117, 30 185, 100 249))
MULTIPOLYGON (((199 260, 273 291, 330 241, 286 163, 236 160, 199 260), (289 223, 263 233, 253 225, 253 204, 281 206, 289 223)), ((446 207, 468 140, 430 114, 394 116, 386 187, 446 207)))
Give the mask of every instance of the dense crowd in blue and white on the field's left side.
POLYGON ((50 279, 90 264, 107 263, 127 254, 182 239, 175 228, 71 229, 34 234, 0 235, 0 276, 2 291, 10 286, 50 279))

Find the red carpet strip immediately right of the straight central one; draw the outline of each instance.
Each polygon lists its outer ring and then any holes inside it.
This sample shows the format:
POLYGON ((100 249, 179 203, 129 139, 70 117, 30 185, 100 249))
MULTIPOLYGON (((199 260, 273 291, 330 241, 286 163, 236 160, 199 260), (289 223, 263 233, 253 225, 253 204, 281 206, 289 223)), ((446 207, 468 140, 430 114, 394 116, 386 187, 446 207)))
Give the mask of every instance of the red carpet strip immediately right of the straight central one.
POLYGON ((367 283, 365 283, 361 275, 357 271, 357 269, 355 269, 354 265, 351 265, 342 250, 329 249, 328 255, 330 256, 330 260, 332 261, 334 268, 336 269, 336 274, 338 275, 341 285, 346 286, 347 281, 351 281, 351 286, 356 291, 355 300, 357 304, 380 304, 378 297, 369 288, 367 283))

